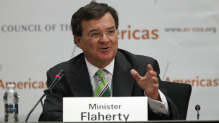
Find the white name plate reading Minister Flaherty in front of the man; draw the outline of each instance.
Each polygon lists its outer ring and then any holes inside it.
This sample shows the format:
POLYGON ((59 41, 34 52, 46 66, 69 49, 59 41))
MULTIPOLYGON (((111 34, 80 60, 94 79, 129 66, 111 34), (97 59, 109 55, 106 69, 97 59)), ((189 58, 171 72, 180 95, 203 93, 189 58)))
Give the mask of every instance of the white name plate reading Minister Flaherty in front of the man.
POLYGON ((65 97, 63 121, 147 121, 147 101, 147 97, 65 97))

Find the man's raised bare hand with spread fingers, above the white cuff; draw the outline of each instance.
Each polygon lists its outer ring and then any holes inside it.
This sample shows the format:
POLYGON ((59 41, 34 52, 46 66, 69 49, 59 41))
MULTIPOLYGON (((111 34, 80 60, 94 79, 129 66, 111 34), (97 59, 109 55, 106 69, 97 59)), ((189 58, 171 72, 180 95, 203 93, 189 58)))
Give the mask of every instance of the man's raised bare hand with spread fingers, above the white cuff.
POLYGON ((149 98, 160 101, 157 73, 150 64, 148 64, 147 72, 144 76, 140 76, 134 69, 130 70, 130 73, 149 98))

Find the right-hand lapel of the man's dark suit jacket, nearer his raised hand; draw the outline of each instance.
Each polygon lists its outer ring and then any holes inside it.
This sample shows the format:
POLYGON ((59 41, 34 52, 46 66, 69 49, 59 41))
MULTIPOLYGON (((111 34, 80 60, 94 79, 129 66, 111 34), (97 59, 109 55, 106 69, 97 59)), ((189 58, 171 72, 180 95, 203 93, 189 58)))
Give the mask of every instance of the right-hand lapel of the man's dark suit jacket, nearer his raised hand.
POLYGON ((126 57, 117 52, 113 72, 113 96, 131 96, 134 86, 134 79, 130 74, 132 66, 126 57))

